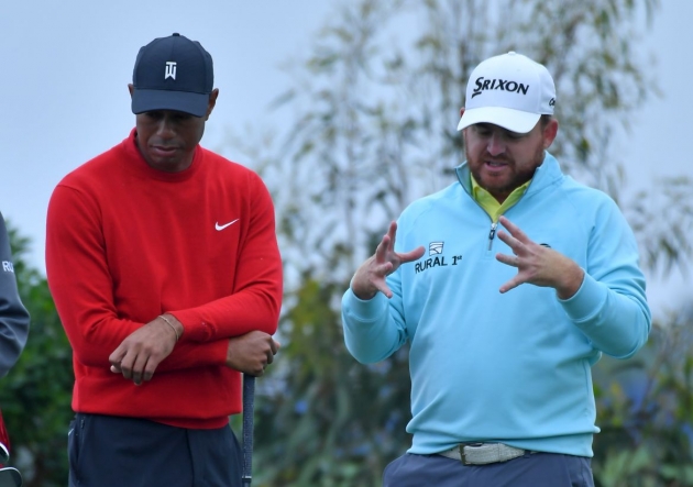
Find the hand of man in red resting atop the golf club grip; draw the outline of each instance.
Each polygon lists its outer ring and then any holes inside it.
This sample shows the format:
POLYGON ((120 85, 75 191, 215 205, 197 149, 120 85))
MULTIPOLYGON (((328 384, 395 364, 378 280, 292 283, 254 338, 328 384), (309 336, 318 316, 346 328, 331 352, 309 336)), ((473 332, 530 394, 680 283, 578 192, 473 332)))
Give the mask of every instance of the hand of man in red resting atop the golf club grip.
POLYGON ((261 376, 274 362, 279 342, 265 332, 252 331, 229 340, 227 366, 253 376, 261 376))

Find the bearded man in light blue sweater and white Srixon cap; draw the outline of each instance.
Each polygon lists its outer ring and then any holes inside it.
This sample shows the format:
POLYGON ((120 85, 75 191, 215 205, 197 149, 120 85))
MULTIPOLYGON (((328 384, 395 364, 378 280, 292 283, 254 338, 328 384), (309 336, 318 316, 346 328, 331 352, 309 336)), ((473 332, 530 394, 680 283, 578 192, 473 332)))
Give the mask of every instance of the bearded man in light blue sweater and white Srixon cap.
POLYGON ((651 317, 616 203, 547 152, 554 104, 542 65, 481 63, 458 181, 391 223, 344 294, 358 361, 410 345, 414 440, 385 486, 594 485, 591 367, 632 356, 651 317))

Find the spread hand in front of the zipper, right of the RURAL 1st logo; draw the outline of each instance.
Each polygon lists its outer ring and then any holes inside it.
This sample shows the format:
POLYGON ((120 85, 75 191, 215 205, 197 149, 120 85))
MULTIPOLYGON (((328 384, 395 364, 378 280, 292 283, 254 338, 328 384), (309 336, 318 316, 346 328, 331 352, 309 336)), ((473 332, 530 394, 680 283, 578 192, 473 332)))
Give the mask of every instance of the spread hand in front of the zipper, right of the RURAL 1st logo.
POLYGON ((496 259, 517 267, 517 275, 501 286, 501 292, 507 292, 520 284, 552 287, 559 298, 572 297, 584 278, 584 272, 572 259, 553 248, 532 242, 519 226, 501 217, 499 222, 509 232, 498 232, 498 239, 505 242, 514 255, 496 254, 496 259))

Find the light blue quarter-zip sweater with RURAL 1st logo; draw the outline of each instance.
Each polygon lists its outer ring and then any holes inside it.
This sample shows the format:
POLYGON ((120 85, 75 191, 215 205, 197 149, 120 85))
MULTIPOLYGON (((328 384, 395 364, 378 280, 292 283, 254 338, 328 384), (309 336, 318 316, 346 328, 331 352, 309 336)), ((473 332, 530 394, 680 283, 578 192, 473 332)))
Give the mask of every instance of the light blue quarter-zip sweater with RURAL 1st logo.
POLYGON ((630 357, 651 326, 632 231, 608 196, 564 176, 547 153, 505 214, 578 263, 584 281, 568 300, 530 284, 502 295, 517 269, 495 255, 512 251, 472 198, 466 163, 457 173, 400 215, 395 250, 426 254, 388 276, 393 298, 344 294, 346 347, 373 363, 410 342, 409 453, 502 442, 592 456, 591 366, 602 353, 630 357))

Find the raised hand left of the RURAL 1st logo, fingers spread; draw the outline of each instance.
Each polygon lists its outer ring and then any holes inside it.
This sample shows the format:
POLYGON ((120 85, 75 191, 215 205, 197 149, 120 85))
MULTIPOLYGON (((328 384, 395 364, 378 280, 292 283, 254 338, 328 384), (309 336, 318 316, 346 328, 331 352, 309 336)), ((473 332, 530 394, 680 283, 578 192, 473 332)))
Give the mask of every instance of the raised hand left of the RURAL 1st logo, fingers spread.
POLYGON ((385 278, 397 270, 402 264, 421 258, 426 252, 422 246, 402 254, 395 252, 396 233, 397 223, 392 222, 387 233, 375 250, 375 255, 356 269, 356 274, 351 280, 351 290, 359 299, 373 299, 377 291, 392 298, 393 291, 387 287, 385 278))

